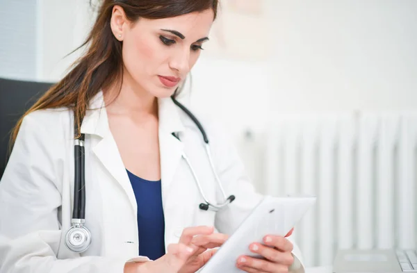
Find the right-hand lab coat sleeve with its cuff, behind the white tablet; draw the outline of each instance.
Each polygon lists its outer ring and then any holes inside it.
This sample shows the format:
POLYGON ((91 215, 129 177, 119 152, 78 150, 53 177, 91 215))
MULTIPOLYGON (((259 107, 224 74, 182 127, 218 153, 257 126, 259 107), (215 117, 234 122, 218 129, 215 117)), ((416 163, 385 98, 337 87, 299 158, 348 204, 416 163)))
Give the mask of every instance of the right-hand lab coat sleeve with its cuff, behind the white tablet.
MULTIPOLYGON (((211 132, 210 140, 213 158, 215 163, 217 163, 216 167, 227 196, 235 195, 236 199, 227 208, 220 210, 216 214, 215 226, 218 231, 231 234, 245 220, 245 217, 256 204, 261 201, 263 196, 255 191, 254 186, 250 182, 231 138, 227 136, 227 133, 222 133, 224 130, 220 129, 220 126, 216 127, 211 125, 209 130, 211 132)), ((220 196, 220 192, 218 196, 220 196)), ((304 272, 304 265, 302 265, 300 249, 292 241, 291 236, 288 240, 294 245, 294 263, 289 268, 289 271, 302 273, 304 272)))

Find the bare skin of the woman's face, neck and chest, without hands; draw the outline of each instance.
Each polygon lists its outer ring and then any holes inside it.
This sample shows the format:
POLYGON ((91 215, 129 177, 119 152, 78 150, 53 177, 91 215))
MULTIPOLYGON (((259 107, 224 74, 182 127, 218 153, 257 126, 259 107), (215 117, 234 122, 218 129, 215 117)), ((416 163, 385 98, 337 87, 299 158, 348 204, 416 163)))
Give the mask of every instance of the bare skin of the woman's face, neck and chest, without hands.
MULTIPOLYGON (((106 110, 126 169, 142 179, 161 179, 156 98, 170 97, 181 84, 167 88, 158 75, 175 76, 183 81, 201 52, 203 42, 197 40, 208 36, 211 24, 211 10, 174 18, 140 18, 133 24, 122 8, 113 9, 111 28, 123 42, 124 78, 119 96, 106 110), (178 31, 185 38, 161 29, 178 31)), ((114 99, 117 92, 116 85, 106 90, 105 101, 114 99)))

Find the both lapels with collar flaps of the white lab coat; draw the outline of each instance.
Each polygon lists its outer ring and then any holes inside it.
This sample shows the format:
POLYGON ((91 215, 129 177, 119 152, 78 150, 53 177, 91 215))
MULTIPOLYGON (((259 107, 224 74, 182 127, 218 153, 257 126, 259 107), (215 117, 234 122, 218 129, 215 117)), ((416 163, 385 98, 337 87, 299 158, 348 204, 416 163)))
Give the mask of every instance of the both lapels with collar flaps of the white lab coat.
MULTIPOLYGON (((180 133, 185 130, 179 111, 181 109, 177 108, 171 98, 158 99, 158 140, 161 160, 161 192, 164 210, 172 202, 168 200, 168 193, 170 192, 170 187, 183 153, 183 142, 172 135, 172 133, 180 133)), ((102 92, 99 92, 90 101, 89 110, 81 124, 81 133, 101 137, 101 140, 95 144, 95 147, 91 147, 91 149, 101 163, 103 163, 104 167, 108 169, 108 172, 122 186, 131 203, 133 213, 136 215, 136 197, 131 188, 122 157, 117 149, 117 144, 108 126, 108 117, 102 92)), ((167 217, 167 222, 170 221, 174 220, 170 220, 167 217)))

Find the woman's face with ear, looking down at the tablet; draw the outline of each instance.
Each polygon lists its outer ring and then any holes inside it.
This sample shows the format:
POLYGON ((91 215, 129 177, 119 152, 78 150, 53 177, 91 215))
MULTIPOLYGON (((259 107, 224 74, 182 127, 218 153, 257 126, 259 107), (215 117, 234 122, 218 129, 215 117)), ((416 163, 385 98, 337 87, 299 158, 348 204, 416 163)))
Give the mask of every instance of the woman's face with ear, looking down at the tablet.
POLYGON ((125 19, 113 8, 112 30, 122 41, 124 81, 169 97, 195 65, 213 24, 213 10, 164 19, 125 19))

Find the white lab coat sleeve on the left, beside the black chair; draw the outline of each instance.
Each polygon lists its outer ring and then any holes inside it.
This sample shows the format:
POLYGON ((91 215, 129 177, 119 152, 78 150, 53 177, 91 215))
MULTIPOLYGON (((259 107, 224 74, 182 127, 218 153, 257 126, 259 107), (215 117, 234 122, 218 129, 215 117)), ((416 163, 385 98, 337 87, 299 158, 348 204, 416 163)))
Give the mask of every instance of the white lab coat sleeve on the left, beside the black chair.
POLYGON ((36 114, 24 118, 0 181, 0 273, 122 273, 126 260, 56 258, 62 162, 54 155, 63 147, 47 138, 48 131, 59 129, 45 128, 47 124, 39 124, 36 114))

